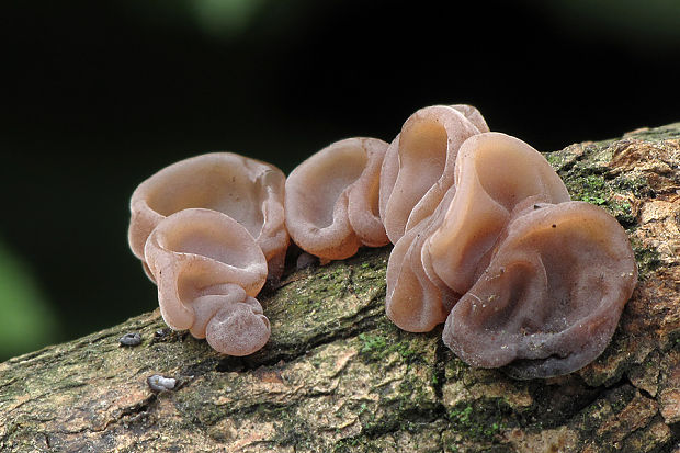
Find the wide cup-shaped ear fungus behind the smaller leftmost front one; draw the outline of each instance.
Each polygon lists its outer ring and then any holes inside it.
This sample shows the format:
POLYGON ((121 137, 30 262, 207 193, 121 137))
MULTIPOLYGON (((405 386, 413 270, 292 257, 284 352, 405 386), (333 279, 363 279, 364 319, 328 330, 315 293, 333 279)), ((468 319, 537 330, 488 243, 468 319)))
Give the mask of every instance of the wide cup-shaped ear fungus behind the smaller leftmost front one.
POLYGON ((284 185, 285 175, 276 167, 231 152, 181 160, 133 193, 129 246, 144 261, 144 245, 163 218, 186 208, 209 208, 242 225, 262 249, 270 275, 280 276, 288 246, 284 185))

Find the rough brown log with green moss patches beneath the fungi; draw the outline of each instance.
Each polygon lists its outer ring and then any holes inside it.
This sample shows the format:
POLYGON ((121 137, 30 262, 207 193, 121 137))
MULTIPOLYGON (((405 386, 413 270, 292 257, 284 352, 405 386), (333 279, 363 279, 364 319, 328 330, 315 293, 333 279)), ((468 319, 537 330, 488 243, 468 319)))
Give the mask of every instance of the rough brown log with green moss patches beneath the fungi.
POLYGON ((264 350, 225 359, 158 312, 0 364, 0 450, 668 452, 680 439, 680 123, 546 155, 627 229, 641 278, 592 364, 474 370, 441 330, 384 315, 389 249, 294 272, 262 297, 264 350), (141 333, 123 348, 118 338, 141 333), (175 377, 154 393, 151 374, 175 377))

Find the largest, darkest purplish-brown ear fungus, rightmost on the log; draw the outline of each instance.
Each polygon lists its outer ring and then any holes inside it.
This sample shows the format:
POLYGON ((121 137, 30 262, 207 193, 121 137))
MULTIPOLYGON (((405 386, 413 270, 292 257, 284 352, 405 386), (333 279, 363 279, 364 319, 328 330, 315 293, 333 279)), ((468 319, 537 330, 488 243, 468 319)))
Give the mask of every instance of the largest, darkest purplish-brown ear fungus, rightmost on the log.
POLYGON ((509 224, 446 319, 444 343, 474 366, 510 364, 523 378, 578 370, 604 350, 633 293, 635 258, 612 216, 583 202, 540 206, 509 224))

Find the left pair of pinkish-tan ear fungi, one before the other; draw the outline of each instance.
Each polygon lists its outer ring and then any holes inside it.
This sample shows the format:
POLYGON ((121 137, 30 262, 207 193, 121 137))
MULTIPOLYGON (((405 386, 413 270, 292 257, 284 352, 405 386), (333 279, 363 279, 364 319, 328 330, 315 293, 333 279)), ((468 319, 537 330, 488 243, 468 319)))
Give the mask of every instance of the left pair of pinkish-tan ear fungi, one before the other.
POLYGON ((276 167, 231 152, 182 160, 139 184, 129 245, 158 285, 168 326, 230 355, 267 343, 254 296, 283 272, 284 184, 276 167))

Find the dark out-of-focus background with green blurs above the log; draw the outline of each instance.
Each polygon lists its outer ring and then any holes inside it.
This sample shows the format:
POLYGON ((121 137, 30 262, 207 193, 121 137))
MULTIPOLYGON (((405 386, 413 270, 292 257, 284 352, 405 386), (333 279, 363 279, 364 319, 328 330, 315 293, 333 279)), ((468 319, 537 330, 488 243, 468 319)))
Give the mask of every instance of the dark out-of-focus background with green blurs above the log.
POLYGON ((468 3, 3 1, 0 360, 157 306, 127 203, 179 159, 288 172, 439 103, 543 151, 680 121, 677 0, 468 3))

